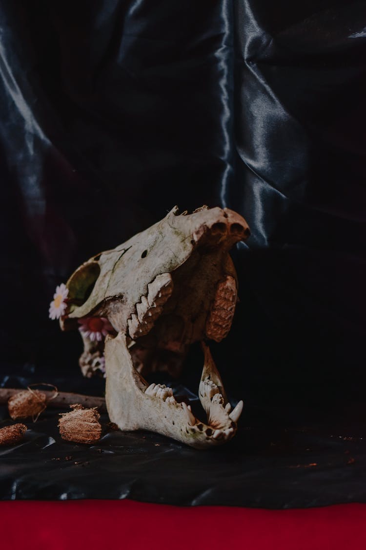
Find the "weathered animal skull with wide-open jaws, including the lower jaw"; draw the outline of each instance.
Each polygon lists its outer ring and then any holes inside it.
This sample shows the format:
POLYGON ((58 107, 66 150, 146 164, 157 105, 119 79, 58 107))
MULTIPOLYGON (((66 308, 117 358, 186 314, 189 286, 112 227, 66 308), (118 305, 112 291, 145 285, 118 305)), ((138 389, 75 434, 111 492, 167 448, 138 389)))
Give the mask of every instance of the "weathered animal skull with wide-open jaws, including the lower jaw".
MULTIPOLYGON (((196 448, 234 436, 243 401, 232 410, 208 343, 220 342, 230 330, 237 277, 228 251, 249 234, 244 218, 227 208, 202 207, 179 215, 175 207, 70 277, 61 327, 76 328, 78 319, 99 316, 114 328, 97 352, 105 356, 110 420, 121 430, 150 430, 196 448), (188 399, 174 397, 171 388, 151 380, 157 371, 179 377, 195 342, 204 354, 198 395, 205 421, 201 414, 196 417, 188 399)), ((85 335, 83 341, 81 366, 92 351, 97 353, 85 335)))

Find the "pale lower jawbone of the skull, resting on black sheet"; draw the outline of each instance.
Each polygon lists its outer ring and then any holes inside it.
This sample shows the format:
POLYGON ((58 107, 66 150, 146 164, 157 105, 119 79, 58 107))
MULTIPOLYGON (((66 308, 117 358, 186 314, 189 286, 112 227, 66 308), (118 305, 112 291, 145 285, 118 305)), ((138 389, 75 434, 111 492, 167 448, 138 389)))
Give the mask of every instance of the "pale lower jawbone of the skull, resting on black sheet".
MULTIPOLYGON (((205 366, 202 378, 207 375, 208 369, 212 368, 212 365, 207 365, 207 357, 209 361, 211 357, 207 349, 205 346, 205 366)), ((126 337, 123 333, 119 333, 115 338, 106 339, 104 353, 106 405, 111 422, 116 423, 122 431, 149 430, 195 448, 210 448, 225 443, 236 433, 238 408, 235 408, 230 414, 230 405, 226 404, 225 410, 218 403, 221 394, 216 395, 216 399, 214 399, 216 403, 212 405, 211 412, 217 410, 218 414, 212 419, 210 419, 209 409, 210 396, 206 395, 203 399, 201 398, 201 402, 204 403, 208 412, 209 424, 196 419, 185 403, 174 403, 174 399, 166 401, 146 394, 147 386, 133 367, 131 355, 127 349, 126 337)), ((217 371, 216 373, 212 370, 210 372, 212 378, 215 379, 215 375, 218 375, 217 371)), ((211 377, 210 374, 207 376, 211 377)), ((213 382, 211 382, 212 385, 215 386, 213 382)), ((200 384, 200 391, 203 387, 206 386, 200 384)), ((151 386, 148 393, 149 391, 151 392, 151 386)), ((242 404, 239 405, 240 410, 241 406, 242 404)))

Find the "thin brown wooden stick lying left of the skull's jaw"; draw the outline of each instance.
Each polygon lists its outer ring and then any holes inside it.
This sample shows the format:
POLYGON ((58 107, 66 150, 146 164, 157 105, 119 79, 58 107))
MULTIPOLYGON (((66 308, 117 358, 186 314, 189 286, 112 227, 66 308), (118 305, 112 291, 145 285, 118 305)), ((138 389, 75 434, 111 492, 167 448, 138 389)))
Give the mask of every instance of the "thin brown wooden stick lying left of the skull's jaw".
MULTIPOLYGON (((46 403, 48 408, 52 409, 68 409, 69 405, 79 403, 83 407, 92 408, 98 407, 99 412, 106 412, 104 397, 94 397, 94 395, 82 395, 80 393, 58 392, 57 397, 54 397, 55 392, 41 390, 46 394, 46 403)), ((6 405, 9 397, 19 392, 24 392, 24 389, 0 388, 0 405, 6 405)))

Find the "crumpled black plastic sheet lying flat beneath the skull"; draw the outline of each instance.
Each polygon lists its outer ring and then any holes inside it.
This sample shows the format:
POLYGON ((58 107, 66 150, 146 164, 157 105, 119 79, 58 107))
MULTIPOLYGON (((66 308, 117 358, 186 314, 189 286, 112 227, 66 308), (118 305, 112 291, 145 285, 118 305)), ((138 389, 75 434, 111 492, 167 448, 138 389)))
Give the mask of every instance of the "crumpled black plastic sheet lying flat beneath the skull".
MULTIPOLYGON (((7 416, 3 408, 3 417, 7 416)), ((57 411, 0 448, 3 499, 132 498, 179 505, 296 508, 366 502, 364 422, 247 405, 227 446, 197 451, 150 432, 110 431, 93 445, 63 441, 57 411), (271 421, 268 420, 269 415, 271 421), (285 424, 284 424, 285 422, 285 424)), ((1 426, 9 423, 1 422, 1 426)))

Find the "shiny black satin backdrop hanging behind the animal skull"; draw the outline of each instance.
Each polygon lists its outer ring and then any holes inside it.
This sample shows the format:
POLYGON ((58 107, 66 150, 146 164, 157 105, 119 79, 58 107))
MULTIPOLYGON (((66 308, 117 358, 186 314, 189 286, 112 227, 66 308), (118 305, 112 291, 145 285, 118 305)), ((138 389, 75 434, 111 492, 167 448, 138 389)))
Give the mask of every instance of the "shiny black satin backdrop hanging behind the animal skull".
POLYGON ((101 391, 78 375, 78 334, 48 320, 55 286, 175 204, 222 205, 252 233, 233 252, 232 332, 213 346, 224 382, 264 425, 352 430, 365 29, 365 2, 3 0, 3 385, 101 391))

